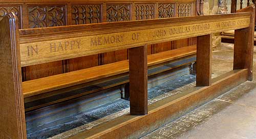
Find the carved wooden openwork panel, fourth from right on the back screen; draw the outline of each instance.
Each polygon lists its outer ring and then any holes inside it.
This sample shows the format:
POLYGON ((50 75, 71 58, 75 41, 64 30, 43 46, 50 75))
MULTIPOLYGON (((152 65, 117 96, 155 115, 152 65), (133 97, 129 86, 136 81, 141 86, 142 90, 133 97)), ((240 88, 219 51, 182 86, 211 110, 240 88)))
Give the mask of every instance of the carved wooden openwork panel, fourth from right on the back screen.
POLYGON ((130 4, 111 4, 106 5, 106 21, 130 21, 131 5, 130 4))

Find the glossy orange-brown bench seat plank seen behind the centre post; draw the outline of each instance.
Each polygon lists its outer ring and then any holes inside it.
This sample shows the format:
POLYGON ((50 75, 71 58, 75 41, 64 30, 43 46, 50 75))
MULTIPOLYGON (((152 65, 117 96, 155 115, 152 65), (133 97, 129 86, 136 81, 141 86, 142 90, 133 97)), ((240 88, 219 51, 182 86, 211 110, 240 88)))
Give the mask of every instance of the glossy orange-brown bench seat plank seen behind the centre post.
MULTIPOLYGON (((154 66, 175 59, 183 58, 188 55, 196 54, 196 46, 183 47, 179 49, 164 51, 148 55, 147 65, 154 66)), ((129 61, 124 60, 116 63, 101 65, 88 69, 82 69, 69 73, 49 76, 23 82, 24 98, 38 94, 67 88, 79 84, 84 84, 93 80, 106 78, 122 73, 129 72, 129 61), (104 72, 102 72, 104 71, 104 72)))

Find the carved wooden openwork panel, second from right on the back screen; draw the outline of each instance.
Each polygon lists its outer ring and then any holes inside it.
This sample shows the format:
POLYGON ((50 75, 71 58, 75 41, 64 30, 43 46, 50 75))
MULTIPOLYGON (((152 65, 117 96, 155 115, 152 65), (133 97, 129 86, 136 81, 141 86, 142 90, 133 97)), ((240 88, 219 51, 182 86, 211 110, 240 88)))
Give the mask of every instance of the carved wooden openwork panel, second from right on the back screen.
POLYGON ((158 6, 158 18, 169 18, 175 17, 174 15, 175 6, 174 4, 159 4, 158 6))

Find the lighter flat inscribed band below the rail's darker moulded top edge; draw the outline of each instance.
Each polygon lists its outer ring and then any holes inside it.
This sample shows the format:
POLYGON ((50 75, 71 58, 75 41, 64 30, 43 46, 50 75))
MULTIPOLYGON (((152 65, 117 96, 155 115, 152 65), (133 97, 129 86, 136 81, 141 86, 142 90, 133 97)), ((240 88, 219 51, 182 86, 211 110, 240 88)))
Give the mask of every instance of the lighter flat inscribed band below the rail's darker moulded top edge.
MULTIPOLYGON (((241 29, 249 27, 249 25, 250 18, 244 17, 242 19, 225 21, 177 24, 176 26, 173 24, 165 26, 159 24, 150 29, 131 28, 117 33, 113 33, 114 31, 107 33, 108 31, 106 31, 101 35, 88 35, 77 38, 72 38, 71 35, 67 39, 20 44, 21 60, 23 64, 27 61, 35 63, 35 59, 40 62, 64 60, 112 50, 132 48, 144 44, 154 44, 162 41, 172 41, 197 35, 241 29), (45 61, 42 61, 42 59, 45 61)), ((29 63, 26 64, 29 65, 29 63)))

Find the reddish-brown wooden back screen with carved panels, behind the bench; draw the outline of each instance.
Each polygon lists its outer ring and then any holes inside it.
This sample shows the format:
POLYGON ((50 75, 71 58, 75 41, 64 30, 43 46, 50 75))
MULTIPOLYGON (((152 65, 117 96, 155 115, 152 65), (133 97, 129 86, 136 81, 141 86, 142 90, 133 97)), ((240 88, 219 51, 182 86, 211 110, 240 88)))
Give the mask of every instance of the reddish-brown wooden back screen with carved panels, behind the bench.
MULTIPOLYGON (((197 15, 196 0, 1 1, 0 19, 13 12, 20 29, 197 15)), ((118 26, 117 26, 118 27, 118 26)), ((93 29, 92 29, 93 30, 93 29)), ((70 42, 72 43, 72 42, 70 42)), ((148 46, 148 54, 196 44, 195 38, 148 46)), ((58 44, 56 44, 58 45, 58 44)), ((127 49, 23 68, 23 81, 129 59, 127 49)))

